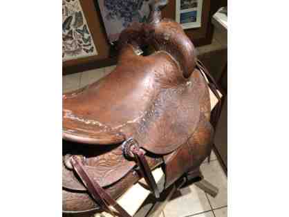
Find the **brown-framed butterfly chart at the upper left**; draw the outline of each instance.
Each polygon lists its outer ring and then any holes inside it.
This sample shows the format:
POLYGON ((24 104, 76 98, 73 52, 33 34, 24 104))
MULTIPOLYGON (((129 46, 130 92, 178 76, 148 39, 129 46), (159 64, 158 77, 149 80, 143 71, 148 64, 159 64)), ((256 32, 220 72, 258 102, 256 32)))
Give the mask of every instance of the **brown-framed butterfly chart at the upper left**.
POLYGON ((63 75, 115 64, 97 6, 96 0, 62 0, 63 75))

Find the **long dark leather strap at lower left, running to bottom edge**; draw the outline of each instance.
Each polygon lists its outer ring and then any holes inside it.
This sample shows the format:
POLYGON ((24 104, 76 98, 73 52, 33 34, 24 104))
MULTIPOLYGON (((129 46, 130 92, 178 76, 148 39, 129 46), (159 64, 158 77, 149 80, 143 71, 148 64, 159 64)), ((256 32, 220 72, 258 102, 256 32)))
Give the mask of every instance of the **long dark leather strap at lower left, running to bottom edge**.
POLYGON ((77 158, 77 156, 71 156, 71 164, 93 199, 97 202, 98 205, 100 205, 100 207, 102 207, 102 209, 104 209, 104 211, 107 211, 112 216, 131 217, 131 215, 129 215, 127 211, 125 211, 118 204, 118 202, 111 198, 111 196, 107 194, 106 191, 102 189, 102 187, 100 187, 97 182, 95 182, 95 180, 88 176, 82 161, 77 158), (115 213, 115 211, 113 211, 110 206, 118 211, 118 214, 115 213))

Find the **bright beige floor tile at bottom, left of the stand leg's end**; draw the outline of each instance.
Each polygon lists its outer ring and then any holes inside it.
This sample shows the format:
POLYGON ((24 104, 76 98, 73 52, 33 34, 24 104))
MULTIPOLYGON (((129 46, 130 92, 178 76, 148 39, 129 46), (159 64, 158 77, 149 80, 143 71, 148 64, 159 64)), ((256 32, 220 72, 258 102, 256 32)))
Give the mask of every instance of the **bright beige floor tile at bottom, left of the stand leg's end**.
POLYGON ((165 217, 183 217, 210 210, 205 192, 190 185, 180 189, 165 206, 165 217))

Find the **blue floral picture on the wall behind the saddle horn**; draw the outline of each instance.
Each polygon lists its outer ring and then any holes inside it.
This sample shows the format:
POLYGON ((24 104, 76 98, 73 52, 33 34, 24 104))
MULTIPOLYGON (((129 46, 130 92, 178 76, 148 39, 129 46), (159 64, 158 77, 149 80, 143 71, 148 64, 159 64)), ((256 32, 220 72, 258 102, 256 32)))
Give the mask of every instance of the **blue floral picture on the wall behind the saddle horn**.
POLYGON ((100 12, 109 41, 117 41, 120 32, 132 22, 149 17, 149 0, 99 0, 100 12))

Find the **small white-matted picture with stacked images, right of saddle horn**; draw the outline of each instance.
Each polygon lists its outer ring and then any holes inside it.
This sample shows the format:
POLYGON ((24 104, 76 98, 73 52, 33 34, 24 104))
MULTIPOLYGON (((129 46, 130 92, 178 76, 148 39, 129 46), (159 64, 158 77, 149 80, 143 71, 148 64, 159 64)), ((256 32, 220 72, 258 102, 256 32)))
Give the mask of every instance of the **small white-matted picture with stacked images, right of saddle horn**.
POLYGON ((183 29, 200 28, 202 26, 203 0, 177 0, 176 21, 183 29))

